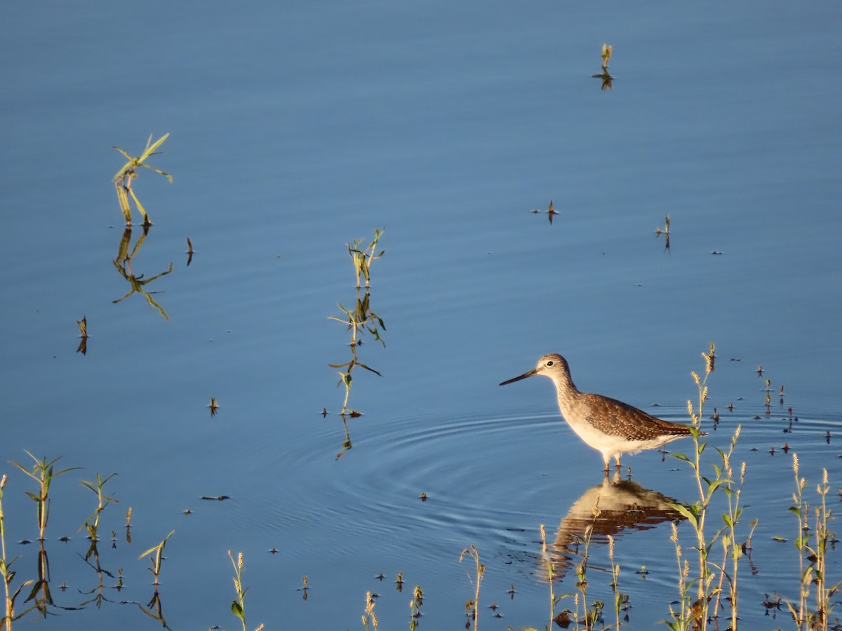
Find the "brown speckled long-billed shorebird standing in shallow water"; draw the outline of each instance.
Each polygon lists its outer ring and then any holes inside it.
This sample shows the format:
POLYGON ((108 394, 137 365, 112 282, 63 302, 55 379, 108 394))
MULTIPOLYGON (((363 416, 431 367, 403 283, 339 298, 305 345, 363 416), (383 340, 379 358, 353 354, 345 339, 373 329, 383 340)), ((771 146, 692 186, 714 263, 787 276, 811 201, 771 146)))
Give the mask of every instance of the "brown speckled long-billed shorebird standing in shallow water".
MULTIPOLYGON (((623 453, 637 453, 642 449, 653 449, 685 436, 691 436, 693 428, 679 425, 638 410, 627 403, 603 395, 579 392, 570 379, 568 360, 557 353, 544 355, 534 370, 504 381, 511 384, 540 374, 552 379, 558 395, 558 409, 564 420, 589 447, 602 453, 605 473, 611 458, 620 468, 623 453)), ((700 436, 704 436, 700 432, 700 436)))

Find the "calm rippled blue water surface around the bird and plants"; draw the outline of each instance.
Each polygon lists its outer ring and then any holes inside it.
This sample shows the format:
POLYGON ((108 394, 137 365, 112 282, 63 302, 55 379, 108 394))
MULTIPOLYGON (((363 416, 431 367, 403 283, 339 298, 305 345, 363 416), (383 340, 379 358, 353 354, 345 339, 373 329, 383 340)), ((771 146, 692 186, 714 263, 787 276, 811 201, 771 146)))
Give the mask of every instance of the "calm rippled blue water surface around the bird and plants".
MULTIPOLYGON (((543 625, 538 528, 565 528, 601 484, 600 458, 560 421, 550 384, 497 384, 560 352, 581 389, 685 422, 690 371, 715 341, 710 440, 724 447, 742 424, 744 536, 759 519, 741 618, 786 626, 760 605, 797 589, 791 544, 772 540, 797 529, 783 443, 811 492, 823 467, 834 507, 842 485, 840 26, 829 2, 5 3, 0 461, 29 464, 28 449, 85 468, 52 489, 59 615, 29 620, 157 628, 132 604, 153 594, 137 556, 174 529, 159 589, 171 628, 237 628, 228 549, 245 554, 249 628, 353 628, 365 591, 397 627, 415 585, 422 628, 451 628, 472 597, 470 544, 487 565, 483 628, 543 625), (591 78, 604 41, 605 92, 591 78), (169 320, 139 294, 113 302, 131 287, 112 264, 110 183, 111 146, 136 155, 167 132, 150 162, 174 183, 136 180, 154 225, 132 267, 152 278, 173 262, 146 286, 169 320), (664 215, 669 252, 654 236, 664 215), (383 226, 370 300, 386 347, 360 347, 382 377, 354 373, 349 406, 364 416, 337 459, 343 393, 328 363, 348 361, 349 337, 328 316, 356 297, 345 244, 383 226), (95 506, 78 480, 98 471, 118 474, 100 527, 110 602, 64 611, 99 585, 78 532, 95 506), (219 495, 232 499, 199 499, 219 495)), ((677 460, 624 464, 644 490, 695 499, 677 460)), ((16 543, 37 537, 33 487, 3 472, 17 580, 37 578, 37 549, 16 543)), ((668 525, 616 536, 632 626, 666 618, 668 525)), ((604 568, 605 547, 593 554, 604 568)))

